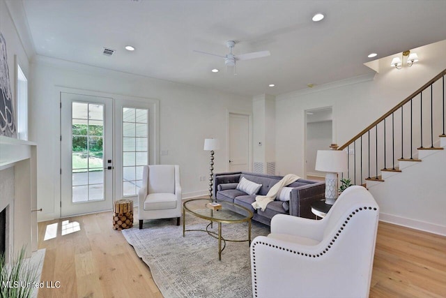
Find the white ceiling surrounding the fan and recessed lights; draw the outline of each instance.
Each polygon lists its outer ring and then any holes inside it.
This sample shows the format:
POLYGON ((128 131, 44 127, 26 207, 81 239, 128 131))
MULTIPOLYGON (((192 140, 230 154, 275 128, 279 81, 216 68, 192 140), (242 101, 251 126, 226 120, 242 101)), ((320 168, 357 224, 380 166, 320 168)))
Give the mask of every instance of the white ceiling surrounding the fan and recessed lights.
POLYGON ((23 0, 36 53, 236 94, 284 94, 370 73, 363 64, 446 39, 446 1, 23 0), (312 22, 315 13, 321 22, 312 22), (234 76, 223 59, 238 61, 234 76), (128 52, 125 45, 137 50, 128 52), (116 50, 112 57, 102 47, 116 50), (219 68, 220 73, 211 73, 219 68), (268 84, 275 87, 268 87, 268 84))

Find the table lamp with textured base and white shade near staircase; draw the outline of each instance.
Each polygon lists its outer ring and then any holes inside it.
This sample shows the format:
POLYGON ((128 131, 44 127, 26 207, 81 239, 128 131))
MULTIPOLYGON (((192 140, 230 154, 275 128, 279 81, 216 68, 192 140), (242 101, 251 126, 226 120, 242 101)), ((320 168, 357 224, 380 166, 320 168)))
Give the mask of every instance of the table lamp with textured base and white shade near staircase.
POLYGON ((316 171, 325 174, 325 204, 334 204, 337 199, 337 173, 347 171, 347 152, 341 150, 318 150, 316 171))

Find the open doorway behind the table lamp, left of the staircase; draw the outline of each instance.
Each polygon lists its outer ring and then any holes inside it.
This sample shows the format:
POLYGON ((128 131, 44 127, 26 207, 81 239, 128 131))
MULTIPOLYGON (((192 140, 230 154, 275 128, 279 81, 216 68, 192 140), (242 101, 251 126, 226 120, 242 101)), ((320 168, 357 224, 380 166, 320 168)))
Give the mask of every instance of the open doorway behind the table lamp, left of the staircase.
POLYGON ((330 149, 332 143, 332 107, 305 111, 305 177, 318 180, 325 173, 315 170, 318 150, 330 149))

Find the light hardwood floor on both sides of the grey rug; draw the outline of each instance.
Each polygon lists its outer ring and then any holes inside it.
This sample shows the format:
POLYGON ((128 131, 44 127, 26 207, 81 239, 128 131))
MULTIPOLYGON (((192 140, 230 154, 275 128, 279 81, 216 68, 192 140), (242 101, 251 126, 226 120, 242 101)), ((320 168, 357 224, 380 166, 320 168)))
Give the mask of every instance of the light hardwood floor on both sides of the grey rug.
MULTIPOLYGON (((111 212, 47 221, 38 230, 38 247, 46 248, 42 281, 61 283, 38 297, 162 297, 150 269, 112 230, 111 212), (67 221, 80 230, 62 236, 67 221), (55 223, 57 236, 45 240, 55 223)), ((446 297, 446 237, 380 222, 370 297, 446 297)))

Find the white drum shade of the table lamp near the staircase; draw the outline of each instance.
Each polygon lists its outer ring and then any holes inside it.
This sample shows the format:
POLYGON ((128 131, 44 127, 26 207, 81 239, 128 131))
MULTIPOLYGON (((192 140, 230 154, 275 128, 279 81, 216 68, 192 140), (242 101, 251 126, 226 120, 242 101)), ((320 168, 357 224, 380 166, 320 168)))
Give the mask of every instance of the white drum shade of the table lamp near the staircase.
POLYGON ((344 150, 318 150, 316 171, 339 173, 347 171, 347 152, 344 150))

